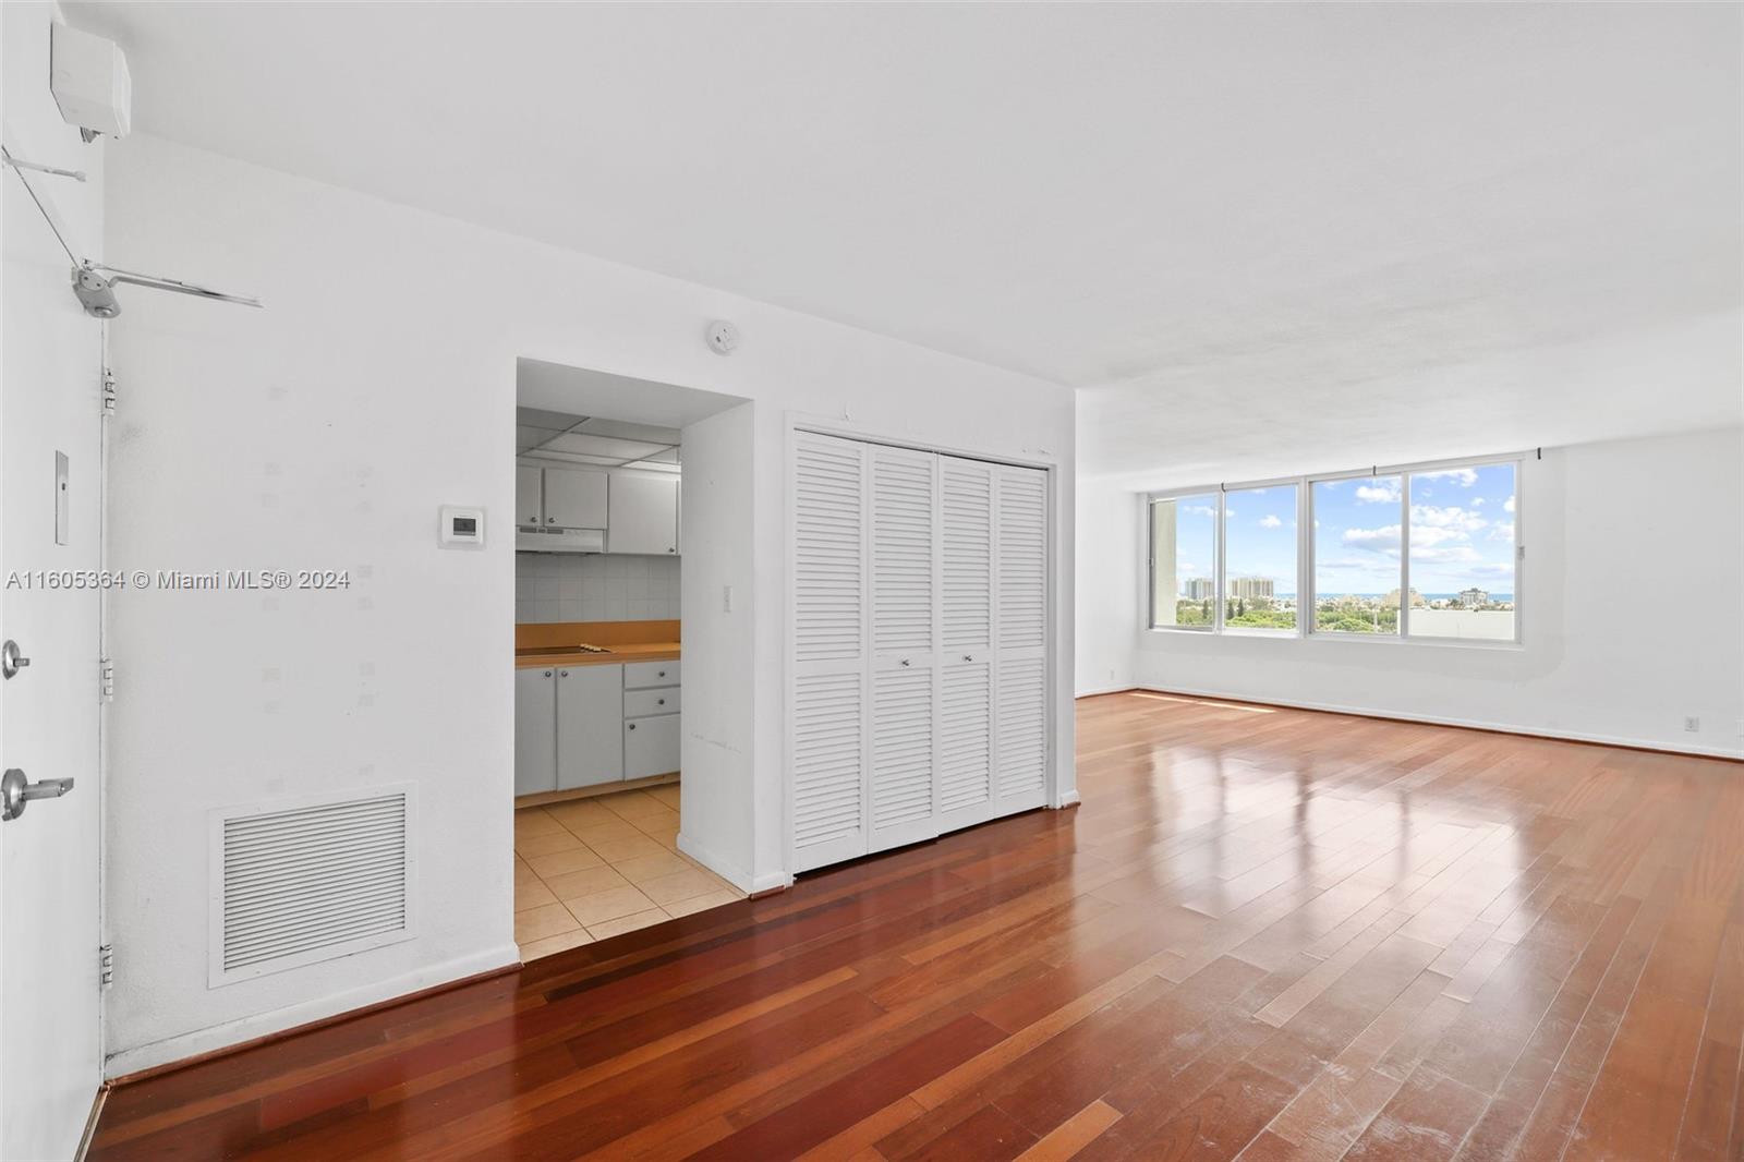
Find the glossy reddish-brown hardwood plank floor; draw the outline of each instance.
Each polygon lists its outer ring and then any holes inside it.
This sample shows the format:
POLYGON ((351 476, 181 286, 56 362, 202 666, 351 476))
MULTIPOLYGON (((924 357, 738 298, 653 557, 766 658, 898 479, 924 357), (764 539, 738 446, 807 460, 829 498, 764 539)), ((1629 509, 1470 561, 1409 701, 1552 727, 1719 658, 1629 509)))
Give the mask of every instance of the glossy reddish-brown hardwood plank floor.
POLYGON ((1744 1157, 1744 766, 1078 715, 1076 811, 120 1087, 91 1157, 1744 1157))

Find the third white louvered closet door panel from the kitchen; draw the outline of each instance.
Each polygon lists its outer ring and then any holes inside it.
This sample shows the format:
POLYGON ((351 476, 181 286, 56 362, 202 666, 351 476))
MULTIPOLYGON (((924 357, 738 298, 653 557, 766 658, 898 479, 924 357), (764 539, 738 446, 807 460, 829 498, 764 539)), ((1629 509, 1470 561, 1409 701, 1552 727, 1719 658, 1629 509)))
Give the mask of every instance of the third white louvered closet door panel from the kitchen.
POLYGON ((938 829, 992 818, 992 475, 985 461, 938 457, 942 660, 938 829))

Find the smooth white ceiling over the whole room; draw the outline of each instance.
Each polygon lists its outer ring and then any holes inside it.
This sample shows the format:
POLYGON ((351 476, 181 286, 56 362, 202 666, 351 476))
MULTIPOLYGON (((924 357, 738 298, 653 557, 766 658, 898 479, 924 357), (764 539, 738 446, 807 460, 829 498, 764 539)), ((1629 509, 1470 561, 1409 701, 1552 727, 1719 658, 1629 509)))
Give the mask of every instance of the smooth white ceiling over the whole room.
POLYGON ((1737 5, 68 7, 146 133, 1099 387, 1095 471, 1744 410, 1737 5))

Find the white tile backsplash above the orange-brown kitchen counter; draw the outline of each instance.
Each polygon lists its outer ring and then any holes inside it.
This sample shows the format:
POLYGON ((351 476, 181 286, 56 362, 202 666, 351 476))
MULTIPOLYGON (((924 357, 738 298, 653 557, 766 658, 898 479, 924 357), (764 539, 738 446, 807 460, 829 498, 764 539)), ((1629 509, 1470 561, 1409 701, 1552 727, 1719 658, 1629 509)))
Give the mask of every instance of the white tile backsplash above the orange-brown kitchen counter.
POLYGON ((516 553, 514 621, 671 621, 677 557, 516 553))

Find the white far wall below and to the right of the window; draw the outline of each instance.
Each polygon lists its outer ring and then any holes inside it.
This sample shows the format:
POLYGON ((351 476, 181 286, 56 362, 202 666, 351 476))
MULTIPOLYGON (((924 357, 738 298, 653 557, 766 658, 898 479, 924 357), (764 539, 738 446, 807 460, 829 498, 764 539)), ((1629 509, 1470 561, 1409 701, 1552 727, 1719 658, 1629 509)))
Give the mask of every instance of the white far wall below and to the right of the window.
MULTIPOLYGON (((1735 427, 1528 459, 1517 649, 1148 632, 1134 602, 1120 626, 1087 623, 1080 651, 1127 640, 1135 680, 1158 689, 1741 755, 1741 466, 1735 427)), ((1080 536, 1080 571, 1097 560, 1137 576, 1118 527, 1080 536)))

